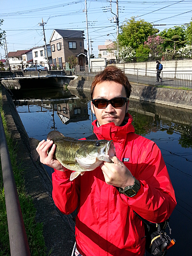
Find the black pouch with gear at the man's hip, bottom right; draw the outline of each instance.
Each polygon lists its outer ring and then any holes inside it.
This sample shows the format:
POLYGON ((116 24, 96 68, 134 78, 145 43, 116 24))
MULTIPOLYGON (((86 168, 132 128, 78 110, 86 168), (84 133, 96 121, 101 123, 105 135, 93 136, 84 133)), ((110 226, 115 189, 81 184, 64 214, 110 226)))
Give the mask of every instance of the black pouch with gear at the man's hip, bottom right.
POLYGON ((135 214, 144 222, 145 225, 145 249, 154 256, 166 255, 167 250, 176 242, 175 239, 171 239, 165 232, 165 229, 168 228, 169 234, 171 234, 171 228, 169 226, 170 218, 162 223, 152 223, 143 219, 136 212, 135 214))

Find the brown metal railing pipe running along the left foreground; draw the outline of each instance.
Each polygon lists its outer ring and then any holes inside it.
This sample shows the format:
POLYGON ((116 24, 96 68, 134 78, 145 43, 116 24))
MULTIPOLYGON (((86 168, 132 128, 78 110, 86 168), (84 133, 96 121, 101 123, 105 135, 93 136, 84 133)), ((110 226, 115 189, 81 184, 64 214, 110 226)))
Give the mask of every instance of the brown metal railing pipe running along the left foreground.
POLYGON ((22 211, 20 209, 1 115, 0 134, 0 154, 2 162, 11 256, 30 256, 27 234, 24 226, 22 211))

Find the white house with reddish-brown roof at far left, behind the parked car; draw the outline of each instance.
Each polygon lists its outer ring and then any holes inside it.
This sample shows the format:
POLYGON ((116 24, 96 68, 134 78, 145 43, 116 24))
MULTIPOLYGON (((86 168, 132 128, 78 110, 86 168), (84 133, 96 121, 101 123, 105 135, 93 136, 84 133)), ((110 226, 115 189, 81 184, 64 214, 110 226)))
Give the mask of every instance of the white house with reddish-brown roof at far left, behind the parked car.
POLYGON ((33 63, 32 50, 18 50, 8 53, 9 64, 12 70, 18 70, 28 67, 33 63))

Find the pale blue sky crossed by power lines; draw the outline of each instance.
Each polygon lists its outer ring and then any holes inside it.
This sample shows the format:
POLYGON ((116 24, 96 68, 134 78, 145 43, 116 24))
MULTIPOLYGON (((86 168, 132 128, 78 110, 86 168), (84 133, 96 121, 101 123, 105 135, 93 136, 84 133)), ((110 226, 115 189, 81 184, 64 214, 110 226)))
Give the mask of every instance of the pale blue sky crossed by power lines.
MULTIPOLYGON (((46 41, 49 42, 53 29, 84 30, 85 48, 87 49, 87 28, 85 0, 0 0, 0 27, 6 31, 8 52, 31 49, 44 44, 42 27, 45 25, 46 41)), ((116 14, 116 0, 111 3, 116 14)), ((191 21, 192 1, 182 0, 119 0, 119 26, 125 19, 135 16, 153 23, 160 31, 174 26, 181 26, 191 21), (161 25, 161 26, 158 26, 161 25)), ((106 39, 116 39, 115 16, 110 10, 110 0, 87 0, 89 40, 95 57, 98 45, 104 45, 106 39), (108 35, 109 34, 109 35, 108 35)), ((0 47, 0 58, 5 57, 4 47, 0 47)))

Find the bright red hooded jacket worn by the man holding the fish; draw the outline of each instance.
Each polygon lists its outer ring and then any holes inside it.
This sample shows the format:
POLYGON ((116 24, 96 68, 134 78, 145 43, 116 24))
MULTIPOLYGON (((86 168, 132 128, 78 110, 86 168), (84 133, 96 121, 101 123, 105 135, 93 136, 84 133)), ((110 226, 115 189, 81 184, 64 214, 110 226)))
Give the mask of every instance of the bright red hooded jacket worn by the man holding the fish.
POLYGON ((71 170, 52 175, 53 199, 63 214, 78 207, 76 243, 84 256, 144 255, 145 238, 142 221, 162 222, 176 206, 175 193, 158 146, 136 135, 133 118, 124 126, 108 123, 97 127, 98 139, 113 140, 116 155, 139 180, 141 188, 128 198, 108 185, 100 167, 70 181, 71 170))

